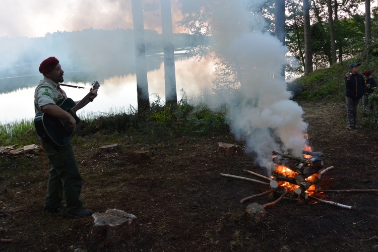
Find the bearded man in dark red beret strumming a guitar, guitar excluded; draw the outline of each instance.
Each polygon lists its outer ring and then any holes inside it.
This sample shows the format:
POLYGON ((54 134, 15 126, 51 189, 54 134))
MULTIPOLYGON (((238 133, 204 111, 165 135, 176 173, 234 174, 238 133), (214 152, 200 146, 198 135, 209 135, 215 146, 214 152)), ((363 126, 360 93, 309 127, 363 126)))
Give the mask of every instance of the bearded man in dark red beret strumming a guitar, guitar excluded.
MULTIPOLYGON (((74 116, 57 105, 59 100, 67 98, 66 93, 59 87, 59 83, 64 81, 64 71, 61 69, 59 60, 55 57, 46 58, 40 64, 39 72, 43 74, 43 80, 35 89, 35 112, 43 112, 50 117, 63 119, 67 122, 67 127, 75 128, 77 121, 74 116)), ((91 90, 87 99, 93 101, 96 96, 97 89, 91 90)), ((52 146, 41 141, 52 164, 43 210, 47 213, 65 210, 74 216, 92 215, 91 210, 83 208, 80 195, 83 181, 72 144, 69 142, 62 146, 52 146), (66 206, 62 204, 63 196, 66 206)))

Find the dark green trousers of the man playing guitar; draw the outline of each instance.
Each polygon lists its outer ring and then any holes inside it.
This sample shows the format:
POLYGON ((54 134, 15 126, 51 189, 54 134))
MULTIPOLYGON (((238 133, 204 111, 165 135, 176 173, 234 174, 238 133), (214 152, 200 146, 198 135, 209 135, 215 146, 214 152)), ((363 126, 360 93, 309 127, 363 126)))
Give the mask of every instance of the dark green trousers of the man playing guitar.
POLYGON ((83 180, 72 144, 69 143, 54 149, 43 143, 43 149, 52 165, 49 171, 44 207, 59 207, 64 196, 67 212, 81 210, 83 199, 80 193, 83 180))

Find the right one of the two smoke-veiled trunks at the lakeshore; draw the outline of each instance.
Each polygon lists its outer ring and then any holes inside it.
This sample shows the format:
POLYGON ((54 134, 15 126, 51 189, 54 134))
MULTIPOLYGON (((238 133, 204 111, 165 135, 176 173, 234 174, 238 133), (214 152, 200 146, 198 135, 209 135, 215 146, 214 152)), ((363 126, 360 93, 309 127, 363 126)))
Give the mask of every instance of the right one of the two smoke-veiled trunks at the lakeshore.
POLYGON ((172 14, 170 0, 160 0, 164 47, 165 103, 177 105, 174 48, 172 44, 172 14))

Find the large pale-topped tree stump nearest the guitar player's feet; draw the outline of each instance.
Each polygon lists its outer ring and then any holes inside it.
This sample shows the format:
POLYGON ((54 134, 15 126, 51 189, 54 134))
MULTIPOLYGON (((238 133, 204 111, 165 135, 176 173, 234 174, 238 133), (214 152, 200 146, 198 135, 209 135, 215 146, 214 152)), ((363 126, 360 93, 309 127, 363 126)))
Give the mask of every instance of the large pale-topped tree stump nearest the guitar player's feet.
POLYGON ((130 240, 140 232, 135 215, 122 210, 108 209, 105 213, 94 213, 93 234, 103 240, 113 242, 130 240))

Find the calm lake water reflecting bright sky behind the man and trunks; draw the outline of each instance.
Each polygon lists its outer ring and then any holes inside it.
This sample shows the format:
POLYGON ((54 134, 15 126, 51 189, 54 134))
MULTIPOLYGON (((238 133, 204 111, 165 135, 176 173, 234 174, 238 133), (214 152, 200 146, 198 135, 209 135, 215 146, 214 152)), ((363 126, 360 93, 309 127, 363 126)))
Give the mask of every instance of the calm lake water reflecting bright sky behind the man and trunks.
MULTIPOLYGON (((64 69, 64 63, 62 69, 64 69)), ((180 58, 175 61, 176 89, 177 99, 181 98, 183 89, 188 97, 196 97, 203 90, 212 88, 212 81, 215 78, 215 62, 212 59, 202 59, 197 61, 193 58, 180 58)), ((65 72, 65 80, 70 79, 72 73, 65 72)), ((164 88, 164 63, 161 62, 160 68, 150 71, 147 74, 150 94, 150 102, 157 99, 157 95, 162 101, 165 100, 164 88)), ((15 76, 0 76, 1 80, 12 78, 17 82, 15 76)), ((36 77, 34 76, 34 79, 36 77)), ((40 79, 43 76, 40 75, 40 79)), ((117 75, 113 77, 98 77, 100 88, 98 96, 94 102, 89 103, 86 107, 79 110, 78 115, 82 119, 87 115, 116 114, 119 112, 128 112, 130 107, 137 108, 137 81, 136 75, 117 75), (103 81, 102 81, 103 80, 103 81)), ((95 80, 93 80, 95 81, 95 80)), ((87 82, 64 82, 65 84, 82 86, 85 89, 62 87, 68 97, 73 100, 82 99, 88 92, 91 85, 87 82)), ((20 121, 22 119, 32 120, 34 118, 34 90, 38 81, 29 84, 29 87, 21 88, 12 92, 0 94, 0 124, 20 121)))

